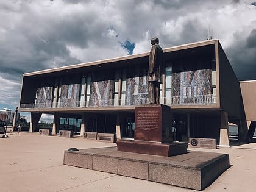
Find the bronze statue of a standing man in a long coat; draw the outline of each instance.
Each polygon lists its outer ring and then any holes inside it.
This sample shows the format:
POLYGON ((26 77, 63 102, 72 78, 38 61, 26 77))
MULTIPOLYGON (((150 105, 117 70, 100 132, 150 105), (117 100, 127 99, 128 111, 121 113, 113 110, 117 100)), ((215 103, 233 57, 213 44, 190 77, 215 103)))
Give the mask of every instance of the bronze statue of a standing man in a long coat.
POLYGON ((163 50, 159 46, 157 37, 151 40, 151 51, 149 54, 149 102, 159 104, 160 84, 162 84, 163 50))

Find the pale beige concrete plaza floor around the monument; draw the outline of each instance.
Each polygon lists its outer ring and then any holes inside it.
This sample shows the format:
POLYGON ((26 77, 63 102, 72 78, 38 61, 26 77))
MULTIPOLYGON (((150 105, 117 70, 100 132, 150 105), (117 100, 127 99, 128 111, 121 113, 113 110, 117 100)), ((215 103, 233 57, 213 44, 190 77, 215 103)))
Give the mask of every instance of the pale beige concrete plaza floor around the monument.
MULTIPOLYGON (((0 191, 196 191, 63 165, 64 151, 71 147, 102 148, 115 143, 29 132, 8 135, 0 138, 0 191)), ((256 191, 256 143, 188 149, 230 155, 231 167, 204 191, 256 191)))

